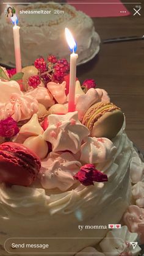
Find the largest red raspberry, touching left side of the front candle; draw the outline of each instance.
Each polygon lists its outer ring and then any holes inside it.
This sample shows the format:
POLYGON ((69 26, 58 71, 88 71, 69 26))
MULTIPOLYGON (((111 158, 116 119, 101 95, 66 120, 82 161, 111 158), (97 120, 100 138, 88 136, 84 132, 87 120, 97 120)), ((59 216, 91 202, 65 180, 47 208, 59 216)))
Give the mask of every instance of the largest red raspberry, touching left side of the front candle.
POLYGON ((70 70, 70 64, 68 64, 67 59, 60 59, 54 65, 54 77, 60 81, 70 70))

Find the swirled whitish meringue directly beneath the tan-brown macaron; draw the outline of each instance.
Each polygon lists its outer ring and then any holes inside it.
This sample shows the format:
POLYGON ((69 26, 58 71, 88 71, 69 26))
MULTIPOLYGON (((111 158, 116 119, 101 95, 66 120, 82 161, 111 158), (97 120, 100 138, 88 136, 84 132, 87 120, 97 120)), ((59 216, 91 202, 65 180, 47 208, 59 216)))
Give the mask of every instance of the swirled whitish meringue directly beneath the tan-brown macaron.
POLYGON ((105 137, 87 137, 84 142, 81 146, 80 161, 85 164, 104 163, 112 158, 117 151, 112 141, 105 137))

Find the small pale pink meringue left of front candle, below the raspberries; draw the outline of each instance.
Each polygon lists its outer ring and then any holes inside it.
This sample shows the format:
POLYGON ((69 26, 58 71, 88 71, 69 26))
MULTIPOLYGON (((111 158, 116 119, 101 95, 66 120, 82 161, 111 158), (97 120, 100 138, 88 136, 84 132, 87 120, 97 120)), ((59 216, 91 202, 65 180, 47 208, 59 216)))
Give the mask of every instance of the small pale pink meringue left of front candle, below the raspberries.
POLYGON ((65 81, 63 81, 62 84, 57 84, 56 82, 48 82, 47 84, 49 92, 51 92, 57 103, 63 104, 67 101, 67 96, 65 95, 65 86, 65 81))

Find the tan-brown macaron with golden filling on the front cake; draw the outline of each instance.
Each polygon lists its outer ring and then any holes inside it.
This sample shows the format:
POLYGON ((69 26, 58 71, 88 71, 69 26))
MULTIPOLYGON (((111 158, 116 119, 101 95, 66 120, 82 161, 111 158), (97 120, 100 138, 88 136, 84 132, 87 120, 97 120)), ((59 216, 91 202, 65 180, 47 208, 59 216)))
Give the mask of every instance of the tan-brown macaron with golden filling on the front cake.
POLYGON ((93 104, 84 115, 82 124, 87 126, 92 137, 112 139, 121 130, 124 115, 121 109, 110 102, 93 104))

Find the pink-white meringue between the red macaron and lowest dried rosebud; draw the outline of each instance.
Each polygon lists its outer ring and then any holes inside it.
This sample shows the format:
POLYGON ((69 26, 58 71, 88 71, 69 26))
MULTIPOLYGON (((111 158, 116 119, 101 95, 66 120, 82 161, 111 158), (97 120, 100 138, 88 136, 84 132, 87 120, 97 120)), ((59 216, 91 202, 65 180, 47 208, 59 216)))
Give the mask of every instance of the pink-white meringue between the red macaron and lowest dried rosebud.
POLYGON ((73 175, 81 167, 70 153, 49 153, 48 157, 41 161, 40 183, 45 189, 59 188, 67 191, 74 184, 73 175))

